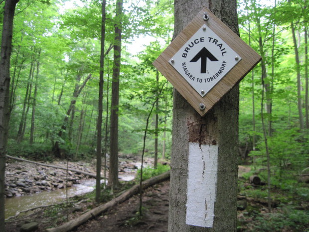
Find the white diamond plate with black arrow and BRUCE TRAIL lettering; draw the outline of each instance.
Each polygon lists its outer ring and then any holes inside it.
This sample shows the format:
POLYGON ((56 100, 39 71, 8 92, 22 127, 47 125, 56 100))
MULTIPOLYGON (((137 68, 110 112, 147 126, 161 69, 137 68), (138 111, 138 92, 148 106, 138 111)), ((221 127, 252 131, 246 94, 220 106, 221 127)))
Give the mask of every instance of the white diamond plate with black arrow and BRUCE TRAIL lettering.
POLYGON ((240 60, 241 57, 204 24, 168 62, 204 97, 240 60))

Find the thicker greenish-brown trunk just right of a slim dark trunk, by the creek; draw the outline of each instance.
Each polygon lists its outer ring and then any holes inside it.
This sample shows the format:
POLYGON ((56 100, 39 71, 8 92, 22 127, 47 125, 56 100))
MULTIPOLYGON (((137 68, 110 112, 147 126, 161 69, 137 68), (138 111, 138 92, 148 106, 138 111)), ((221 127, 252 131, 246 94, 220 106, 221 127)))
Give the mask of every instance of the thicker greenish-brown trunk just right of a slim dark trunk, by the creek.
POLYGON ((121 32, 122 32, 123 0, 116 1, 114 65, 111 102, 111 154, 108 185, 117 187, 118 180, 118 110, 119 110, 119 75, 121 64, 121 32))

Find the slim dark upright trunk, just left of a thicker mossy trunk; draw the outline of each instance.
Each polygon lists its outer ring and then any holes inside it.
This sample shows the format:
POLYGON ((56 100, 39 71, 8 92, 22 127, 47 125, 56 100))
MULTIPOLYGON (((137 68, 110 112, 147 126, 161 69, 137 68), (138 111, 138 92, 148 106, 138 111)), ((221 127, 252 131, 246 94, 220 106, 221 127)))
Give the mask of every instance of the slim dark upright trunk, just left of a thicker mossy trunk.
POLYGON ((105 12, 106 0, 102 0, 102 22, 101 22, 101 54, 100 54, 100 80, 99 80, 99 102, 97 121, 97 181, 96 202, 100 202, 101 196, 101 166, 102 166, 102 114, 103 114, 103 87, 104 87, 104 44, 105 44, 105 12))

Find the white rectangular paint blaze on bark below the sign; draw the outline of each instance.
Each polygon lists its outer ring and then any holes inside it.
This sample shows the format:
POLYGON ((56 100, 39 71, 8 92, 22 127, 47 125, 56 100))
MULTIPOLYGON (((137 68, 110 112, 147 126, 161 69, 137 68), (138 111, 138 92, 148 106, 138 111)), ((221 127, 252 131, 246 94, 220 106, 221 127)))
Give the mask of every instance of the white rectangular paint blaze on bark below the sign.
POLYGON ((218 146, 189 143, 186 224, 211 228, 217 190, 218 146))

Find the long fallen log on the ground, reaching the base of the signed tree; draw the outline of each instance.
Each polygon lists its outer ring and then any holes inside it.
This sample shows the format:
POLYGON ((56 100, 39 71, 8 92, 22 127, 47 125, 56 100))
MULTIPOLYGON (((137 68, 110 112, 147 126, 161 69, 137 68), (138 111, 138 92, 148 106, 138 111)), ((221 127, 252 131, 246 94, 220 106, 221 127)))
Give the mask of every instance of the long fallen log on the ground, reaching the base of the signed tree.
MULTIPOLYGON (((160 183, 162 181, 165 181, 169 178, 170 172, 167 171, 159 176, 153 177, 151 179, 148 179, 146 181, 143 181, 142 188, 146 189, 154 184, 160 183)), ((129 198, 133 197, 137 193, 139 193, 140 185, 135 185, 131 189, 127 190, 123 194, 121 194, 119 197, 114 198, 112 201, 107 202, 101 206, 98 206, 97 208, 92 209, 91 211, 86 212, 85 214, 79 216, 76 219, 71 220, 70 222, 67 222, 60 227, 50 228, 47 229, 48 232, 68 232, 73 230, 74 228, 77 228, 78 226, 84 224, 88 220, 99 216, 103 212, 107 211, 108 209, 116 206, 119 203, 122 203, 129 198)))

